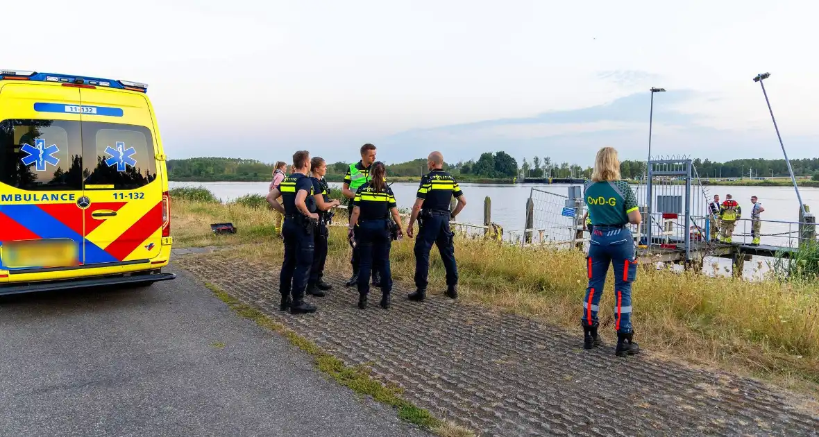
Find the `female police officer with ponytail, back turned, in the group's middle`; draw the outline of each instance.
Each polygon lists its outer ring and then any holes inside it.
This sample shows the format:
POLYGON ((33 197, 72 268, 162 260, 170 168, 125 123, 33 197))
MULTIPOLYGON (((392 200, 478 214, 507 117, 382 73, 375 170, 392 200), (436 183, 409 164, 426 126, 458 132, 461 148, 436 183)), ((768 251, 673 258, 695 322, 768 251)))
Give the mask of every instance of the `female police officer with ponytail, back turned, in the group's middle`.
POLYGON ((355 224, 359 228, 355 231, 356 246, 360 252, 360 266, 358 277, 359 308, 367 308, 367 294, 369 293, 369 274, 375 268, 381 272, 381 308, 390 308, 390 292, 392 291, 392 275, 390 273, 390 246, 391 227, 396 226, 398 236, 401 231, 401 218, 398 214, 396 197, 387 187, 387 179, 382 162, 376 162, 369 171, 370 180, 355 192, 353 211, 350 214, 348 236, 353 237, 355 224), (390 213, 395 224, 390 221, 390 213))

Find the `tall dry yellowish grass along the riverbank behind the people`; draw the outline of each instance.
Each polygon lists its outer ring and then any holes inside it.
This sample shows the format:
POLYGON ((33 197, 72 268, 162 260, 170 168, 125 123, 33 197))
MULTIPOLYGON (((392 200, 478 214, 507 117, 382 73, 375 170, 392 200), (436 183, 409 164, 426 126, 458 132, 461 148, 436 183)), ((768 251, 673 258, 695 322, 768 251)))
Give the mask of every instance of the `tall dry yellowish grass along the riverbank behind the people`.
MULTIPOLYGON (((174 243, 181 246, 247 244, 238 256, 275 268, 283 247, 272 235, 273 212, 232 203, 174 197, 174 243), (210 223, 232 222, 239 232, 215 236, 210 223)), ((341 211, 340 214, 341 215, 341 211)), ((328 271, 349 273, 344 228, 333 228, 328 271)), ((396 241, 391 264, 396 282, 411 283, 414 241, 396 241)), ((520 249, 459 238, 463 300, 517 313, 580 336, 579 302, 586 288, 579 251, 520 249)), ((433 250, 430 290, 445 289, 433 250)), ((612 280, 601 303, 602 330, 613 331, 612 280)), ((815 283, 744 282, 642 269, 634 284, 636 336, 649 354, 762 376, 819 393, 819 293, 815 283)), ((396 296, 396 298, 398 298, 396 296)))

